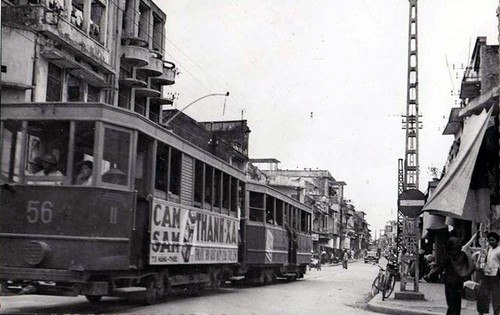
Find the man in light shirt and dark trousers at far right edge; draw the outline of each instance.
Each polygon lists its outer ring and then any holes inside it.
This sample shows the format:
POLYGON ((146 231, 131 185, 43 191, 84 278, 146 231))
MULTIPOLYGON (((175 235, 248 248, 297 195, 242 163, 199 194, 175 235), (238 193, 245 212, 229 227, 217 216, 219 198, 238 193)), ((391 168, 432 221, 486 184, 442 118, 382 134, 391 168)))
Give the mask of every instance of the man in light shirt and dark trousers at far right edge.
POLYGON ((493 314, 500 314, 500 246, 498 242, 500 235, 496 232, 486 234, 488 239, 488 252, 484 266, 479 266, 482 279, 479 286, 477 298, 478 313, 489 313, 490 301, 493 306, 493 314))

